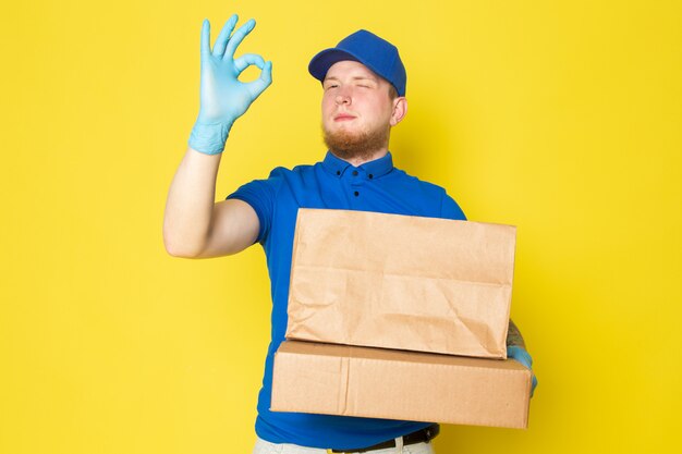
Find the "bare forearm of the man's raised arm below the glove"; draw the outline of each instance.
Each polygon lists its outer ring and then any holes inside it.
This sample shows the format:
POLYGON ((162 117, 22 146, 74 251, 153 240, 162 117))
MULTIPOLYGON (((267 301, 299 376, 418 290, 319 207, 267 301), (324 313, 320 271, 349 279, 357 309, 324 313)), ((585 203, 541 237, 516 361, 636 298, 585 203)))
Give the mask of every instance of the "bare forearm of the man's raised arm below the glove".
POLYGON ((210 230, 220 157, 187 148, 168 192, 163 244, 173 256, 202 251, 210 230))

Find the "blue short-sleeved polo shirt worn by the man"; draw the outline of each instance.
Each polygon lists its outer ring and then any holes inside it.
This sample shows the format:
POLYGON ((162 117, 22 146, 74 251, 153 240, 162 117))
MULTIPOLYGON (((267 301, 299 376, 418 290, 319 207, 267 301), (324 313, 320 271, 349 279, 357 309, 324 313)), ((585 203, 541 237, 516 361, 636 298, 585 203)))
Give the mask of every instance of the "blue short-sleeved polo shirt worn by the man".
POLYGON ((458 204, 442 187, 419 181, 393 167, 391 154, 354 167, 327 152, 325 160, 293 170, 277 168, 267 180, 241 186, 228 198, 251 205, 260 229, 271 282, 271 342, 258 395, 256 433, 271 443, 321 449, 370 446, 428 426, 348 416, 270 412, 273 355, 284 341, 294 226, 299 208, 377 211, 464 220, 458 204))

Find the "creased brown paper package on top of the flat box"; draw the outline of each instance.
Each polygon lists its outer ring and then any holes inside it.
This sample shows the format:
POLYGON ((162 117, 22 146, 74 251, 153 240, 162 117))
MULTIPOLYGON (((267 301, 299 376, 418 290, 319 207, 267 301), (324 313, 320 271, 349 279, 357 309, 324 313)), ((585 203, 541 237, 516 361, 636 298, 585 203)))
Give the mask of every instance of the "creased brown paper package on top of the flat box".
POLYGON ((506 358, 515 233, 300 209, 287 339, 506 358))

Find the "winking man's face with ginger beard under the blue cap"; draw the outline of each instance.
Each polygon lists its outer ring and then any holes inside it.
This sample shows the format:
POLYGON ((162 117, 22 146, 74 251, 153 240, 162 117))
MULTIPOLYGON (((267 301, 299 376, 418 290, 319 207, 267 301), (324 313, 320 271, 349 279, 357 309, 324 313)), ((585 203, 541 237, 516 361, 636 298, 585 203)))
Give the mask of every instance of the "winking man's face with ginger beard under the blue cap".
POLYGON ((322 83, 322 128, 329 149, 343 159, 369 158, 388 147, 395 119, 389 83, 364 64, 334 63, 322 83))

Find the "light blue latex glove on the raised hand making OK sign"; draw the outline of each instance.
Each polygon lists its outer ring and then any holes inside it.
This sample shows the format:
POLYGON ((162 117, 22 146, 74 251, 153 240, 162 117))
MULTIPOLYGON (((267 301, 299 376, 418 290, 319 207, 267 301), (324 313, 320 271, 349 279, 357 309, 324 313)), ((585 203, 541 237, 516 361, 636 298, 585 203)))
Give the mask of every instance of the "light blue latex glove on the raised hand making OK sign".
POLYGON ((253 19, 232 34, 238 16, 226 22, 210 50, 210 23, 202 26, 202 87, 199 115, 190 136, 190 147, 206 155, 217 155, 224 149, 230 128, 251 103, 272 83, 272 62, 246 53, 234 59, 234 51, 244 37, 254 29, 253 19), (230 36, 232 35, 232 36, 230 36), (260 69, 260 77, 249 83, 238 79, 251 65, 260 69))

